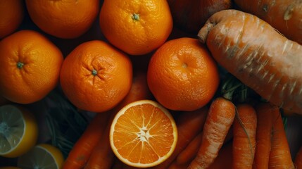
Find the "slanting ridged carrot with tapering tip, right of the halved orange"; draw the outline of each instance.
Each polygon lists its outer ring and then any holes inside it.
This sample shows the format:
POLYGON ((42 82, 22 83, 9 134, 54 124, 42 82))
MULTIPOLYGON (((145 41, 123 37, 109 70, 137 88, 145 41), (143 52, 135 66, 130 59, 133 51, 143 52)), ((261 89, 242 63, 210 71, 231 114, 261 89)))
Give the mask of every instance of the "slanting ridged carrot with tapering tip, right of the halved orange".
POLYGON ((208 168, 213 163, 234 121, 235 112, 232 101, 223 97, 218 97, 210 104, 201 146, 189 168, 208 168))

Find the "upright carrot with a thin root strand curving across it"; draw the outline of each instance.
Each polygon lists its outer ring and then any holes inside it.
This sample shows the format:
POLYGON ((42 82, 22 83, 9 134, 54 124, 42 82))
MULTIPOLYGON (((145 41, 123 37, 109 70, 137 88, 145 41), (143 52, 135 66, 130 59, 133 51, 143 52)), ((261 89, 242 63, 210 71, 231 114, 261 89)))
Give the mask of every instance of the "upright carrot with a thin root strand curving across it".
POLYGON ((232 168, 252 168, 256 148, 256 111, 249 104, 239 104, 237 111, 233 126, 232 168))

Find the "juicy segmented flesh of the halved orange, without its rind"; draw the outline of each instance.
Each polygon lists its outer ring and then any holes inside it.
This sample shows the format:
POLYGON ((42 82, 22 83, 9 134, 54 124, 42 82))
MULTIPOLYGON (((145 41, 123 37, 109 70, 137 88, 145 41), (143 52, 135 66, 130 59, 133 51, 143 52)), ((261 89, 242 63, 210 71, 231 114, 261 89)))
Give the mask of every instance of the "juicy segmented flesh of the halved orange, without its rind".
POLYGON ((114 145, 132 163, 152 163, 168 154, 174 142, 170 119, 149 104, 133 106, 118 118, 114 145), (151 110, 151 111, 143 111, 151 110))

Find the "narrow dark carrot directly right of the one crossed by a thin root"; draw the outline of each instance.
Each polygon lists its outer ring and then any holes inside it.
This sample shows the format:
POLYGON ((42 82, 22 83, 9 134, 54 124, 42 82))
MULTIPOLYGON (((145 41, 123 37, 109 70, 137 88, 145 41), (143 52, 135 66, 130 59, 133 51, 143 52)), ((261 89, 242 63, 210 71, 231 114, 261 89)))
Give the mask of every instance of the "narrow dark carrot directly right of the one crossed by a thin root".
POLYGON ((256 151, 253 168, 268 168, 270 149, 272 146, 272 123, 276 106, 270 103, 260 103, 256 106, 257 129, 256 129, 256 151))

